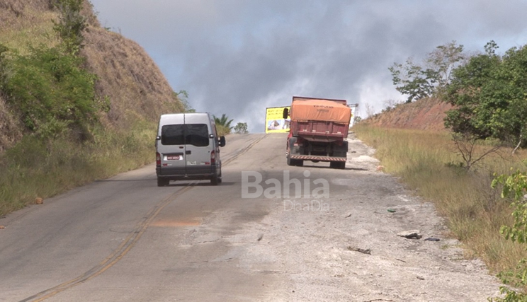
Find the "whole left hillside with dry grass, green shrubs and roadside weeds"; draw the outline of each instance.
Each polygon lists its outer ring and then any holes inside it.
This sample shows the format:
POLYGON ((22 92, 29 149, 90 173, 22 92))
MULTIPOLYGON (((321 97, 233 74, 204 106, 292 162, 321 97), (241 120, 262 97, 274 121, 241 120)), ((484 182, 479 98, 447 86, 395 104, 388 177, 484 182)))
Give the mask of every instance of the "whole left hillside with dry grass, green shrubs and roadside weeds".
POLYGON ((145 50, 101 28, 89 1, 84 47, 63 53, 54 3, 0 0, 0 216, 154 161, 159 115, 183 111, 145 50))

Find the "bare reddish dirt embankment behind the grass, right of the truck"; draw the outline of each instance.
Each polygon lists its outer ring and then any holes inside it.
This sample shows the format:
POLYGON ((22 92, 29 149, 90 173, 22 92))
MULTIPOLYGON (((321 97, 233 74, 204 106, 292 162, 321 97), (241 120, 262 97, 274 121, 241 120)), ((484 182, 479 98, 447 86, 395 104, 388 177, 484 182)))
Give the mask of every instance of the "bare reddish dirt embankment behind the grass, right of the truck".
POLYGON ((364 122, 380 127, 441 131, 446 111, 452 105, 438 98, 423 98, 414 103, 398 104, 391 110, 368 117, 364 122))

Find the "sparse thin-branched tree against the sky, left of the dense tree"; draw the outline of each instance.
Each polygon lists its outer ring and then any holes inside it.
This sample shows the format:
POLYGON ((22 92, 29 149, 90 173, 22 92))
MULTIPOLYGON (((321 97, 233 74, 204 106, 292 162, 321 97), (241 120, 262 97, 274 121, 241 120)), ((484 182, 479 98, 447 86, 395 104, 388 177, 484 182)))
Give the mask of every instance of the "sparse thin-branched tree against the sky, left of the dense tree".
POLYGON ((455 41, 436 47, 425 60, 426 66, 407 59, 404 64, 394 63, 388 68, 392 73, 395 89, 408 95, 406 103, 442 93, 450 82, 450 75, 465 59, 463 45, 455 41))

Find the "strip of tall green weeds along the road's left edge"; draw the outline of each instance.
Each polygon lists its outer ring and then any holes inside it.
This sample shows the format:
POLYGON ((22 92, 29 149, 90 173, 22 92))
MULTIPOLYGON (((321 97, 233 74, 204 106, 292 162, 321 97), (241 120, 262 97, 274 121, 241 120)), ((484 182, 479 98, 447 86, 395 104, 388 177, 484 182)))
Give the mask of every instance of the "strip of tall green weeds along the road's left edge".
POLYGON ((68 138, 26 136, 0 158, 0 216, 88 182, 154 161, 155 125, 127 132, 98 129, 79 145, 68 138))

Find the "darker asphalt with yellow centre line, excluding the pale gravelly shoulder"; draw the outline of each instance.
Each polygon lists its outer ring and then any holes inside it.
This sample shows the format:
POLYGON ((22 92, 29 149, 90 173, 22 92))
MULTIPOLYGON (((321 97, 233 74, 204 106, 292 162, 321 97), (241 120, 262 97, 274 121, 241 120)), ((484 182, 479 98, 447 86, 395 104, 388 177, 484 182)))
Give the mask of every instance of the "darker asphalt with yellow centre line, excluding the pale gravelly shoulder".
POLYGON ((264 204, 240 198, 239 181, 239 169, 254 164, 244 158, 283 161, 283 150, 266 151, 278 138, 263 137, 229 136, 217 187, 207 181, 157 187, 148 165, 1 219, 0 301, 257 298, 271 280, 241 272, 220 239, 236 232, 237 222, 266 214, 264 204), (232 216, 211 225, 218 209, 232 209, 232 216), (193 240, 204 223, 209 238, 193 240))

